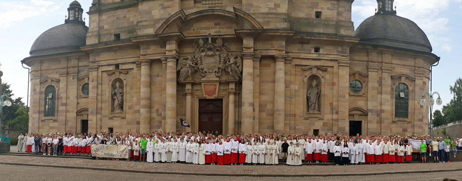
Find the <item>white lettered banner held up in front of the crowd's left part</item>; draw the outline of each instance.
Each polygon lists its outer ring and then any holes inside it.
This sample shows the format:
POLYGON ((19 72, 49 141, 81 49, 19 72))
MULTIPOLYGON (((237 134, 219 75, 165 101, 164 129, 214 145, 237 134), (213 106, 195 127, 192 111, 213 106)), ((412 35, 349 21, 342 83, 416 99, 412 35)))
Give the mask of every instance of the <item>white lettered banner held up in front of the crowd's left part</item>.
POLYGON ((91 156, 128 158, 128 154, 127 145, 91 144, 91 156))

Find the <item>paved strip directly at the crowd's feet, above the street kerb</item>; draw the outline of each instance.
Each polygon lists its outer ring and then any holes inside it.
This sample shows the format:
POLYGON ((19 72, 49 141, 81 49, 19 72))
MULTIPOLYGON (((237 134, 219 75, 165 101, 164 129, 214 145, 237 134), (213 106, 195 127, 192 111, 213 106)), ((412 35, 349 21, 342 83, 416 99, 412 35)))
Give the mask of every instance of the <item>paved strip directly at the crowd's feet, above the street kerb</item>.
MULTIPOLYGON (((336 176, 348 174, 384 174, 415 171, 462 171, 462 162, 450 163, 403 163, 374 165, 196 165, 181 163, 147 163, 137 161, 91 160, 53 156, 0 155, 3 164, 46 165, 54 167, 75 167, 85 169, 117 170, 126 172, 187 174, 187 175, 272 175, 272 176, 336 176)), ((81 170, 82 171, 82 170, 81 170)))

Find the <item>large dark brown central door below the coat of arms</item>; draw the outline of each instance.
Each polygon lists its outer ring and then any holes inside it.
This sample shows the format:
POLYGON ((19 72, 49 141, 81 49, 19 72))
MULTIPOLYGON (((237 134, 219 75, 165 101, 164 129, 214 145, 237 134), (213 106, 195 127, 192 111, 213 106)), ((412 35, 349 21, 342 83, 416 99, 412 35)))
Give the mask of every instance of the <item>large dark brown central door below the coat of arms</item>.
POLYGON ((198 131, 213 133, 223 132, 223 99, 199 99, 198 131))

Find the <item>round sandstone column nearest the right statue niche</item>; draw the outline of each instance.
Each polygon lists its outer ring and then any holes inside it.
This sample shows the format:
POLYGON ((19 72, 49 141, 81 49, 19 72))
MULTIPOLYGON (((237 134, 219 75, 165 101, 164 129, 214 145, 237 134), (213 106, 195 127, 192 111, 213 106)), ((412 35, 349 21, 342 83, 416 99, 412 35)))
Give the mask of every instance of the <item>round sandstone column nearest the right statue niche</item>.
POLYGON ((285 56, 274 56, 274 133, 284 132, 285 125, 285 56))

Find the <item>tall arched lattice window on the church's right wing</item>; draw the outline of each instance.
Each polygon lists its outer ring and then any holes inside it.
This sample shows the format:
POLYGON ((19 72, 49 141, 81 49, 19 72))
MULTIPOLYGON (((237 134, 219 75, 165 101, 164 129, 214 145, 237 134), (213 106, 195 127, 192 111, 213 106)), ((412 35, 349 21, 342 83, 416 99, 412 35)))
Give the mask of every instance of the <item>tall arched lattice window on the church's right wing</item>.
POLYGON ((409 88, 405 83, 399 83, 395 88, 394 117, 408 118, 409 116, 409 88))

